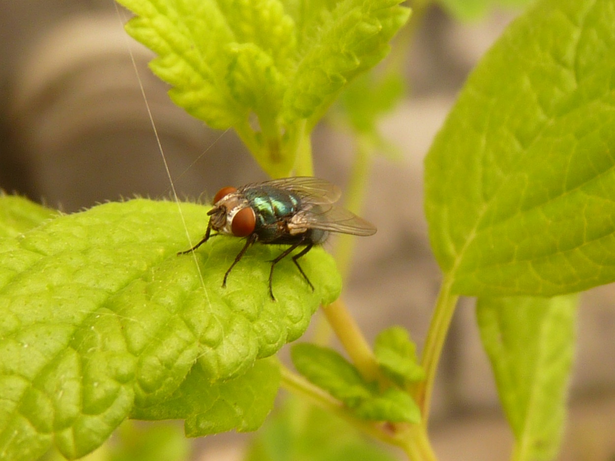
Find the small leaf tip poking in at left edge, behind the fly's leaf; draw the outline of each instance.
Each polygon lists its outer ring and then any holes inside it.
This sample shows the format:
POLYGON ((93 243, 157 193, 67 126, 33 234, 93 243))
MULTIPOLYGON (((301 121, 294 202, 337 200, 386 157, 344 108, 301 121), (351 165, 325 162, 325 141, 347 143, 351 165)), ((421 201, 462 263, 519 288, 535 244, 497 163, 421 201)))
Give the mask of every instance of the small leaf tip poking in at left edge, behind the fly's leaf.
POLYGON ((55 210, 0 191, 0 238, 15 237, 58 215, 55 210))

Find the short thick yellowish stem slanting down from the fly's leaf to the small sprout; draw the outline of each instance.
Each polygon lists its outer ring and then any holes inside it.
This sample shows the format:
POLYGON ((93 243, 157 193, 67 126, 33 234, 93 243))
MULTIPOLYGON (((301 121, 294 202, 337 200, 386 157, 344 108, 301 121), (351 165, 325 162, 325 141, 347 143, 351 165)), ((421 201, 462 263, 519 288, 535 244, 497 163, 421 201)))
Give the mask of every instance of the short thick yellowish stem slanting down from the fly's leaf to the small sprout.
POLYGON ((379 376, 376 357, 344 302, 338 299, 323 306, 322 311, 362 376, 368 381, 376 380, 379 376))

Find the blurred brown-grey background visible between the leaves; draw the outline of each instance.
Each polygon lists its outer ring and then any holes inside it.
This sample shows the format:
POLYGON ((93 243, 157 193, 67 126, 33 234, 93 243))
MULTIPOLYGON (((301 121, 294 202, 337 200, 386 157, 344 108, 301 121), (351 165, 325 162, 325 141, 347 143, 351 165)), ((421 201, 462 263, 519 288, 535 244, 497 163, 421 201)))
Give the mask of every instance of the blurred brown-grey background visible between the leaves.
MULTIPOLYGON (((423 157, 470 69, 517 12, 459 23, 431 7, 404 69, 408 96, 381 130, 401 152, 376 157, 362 213, 378 234, 357 242, 345 298, 370 341, 392 324, 423 344, 440 272, 423 216, 423 157)), ((170 197, 145 90, 180 198, 266 179, 233 132, 215 132, 167 97, 153 55, 122 28, 111 0, 0 1, 0 188, 72 212, 105 200, 170 197)), ((331 119, 329 119, 331 121, 331 119)), ((343 186, 355 146, 323 122, 316 175, 343 186)), ((615 289, 584 294, 560 460, 615 460, 615 289)), ((458 307, 434 395, 431 435, 441 461, 508 459, 512 437, 478 339, 472 300, 458 307)), ((239 460, 249 435, 195 441, 194 459, 239 460)))

